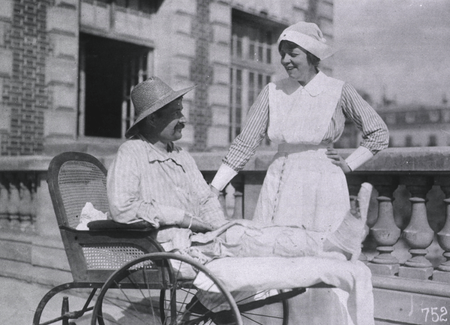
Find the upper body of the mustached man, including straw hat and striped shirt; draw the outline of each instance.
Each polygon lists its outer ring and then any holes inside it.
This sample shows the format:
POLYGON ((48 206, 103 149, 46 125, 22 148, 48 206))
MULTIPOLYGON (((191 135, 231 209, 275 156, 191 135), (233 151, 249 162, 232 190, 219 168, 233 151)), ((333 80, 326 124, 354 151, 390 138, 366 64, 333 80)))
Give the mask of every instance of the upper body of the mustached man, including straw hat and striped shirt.
POLYGON ((137 119, 107 176, 114 221, 171 226, 158 234, 168 251, 184 247, 189 229, 214 230, 227 222, 193 158, 174 145, 186 123, 182 98, 193 88, 173 91, 158 77, 134 88, 137 119))

